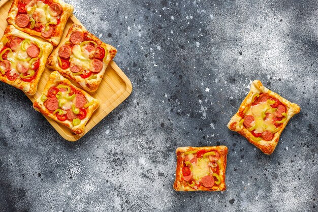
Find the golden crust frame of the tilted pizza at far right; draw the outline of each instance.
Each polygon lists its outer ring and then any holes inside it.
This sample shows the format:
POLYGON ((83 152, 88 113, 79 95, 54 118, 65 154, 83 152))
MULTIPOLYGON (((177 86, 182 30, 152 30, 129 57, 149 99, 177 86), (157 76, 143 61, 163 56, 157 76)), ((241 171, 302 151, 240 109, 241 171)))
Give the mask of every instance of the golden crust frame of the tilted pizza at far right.
POLYGON ((282 98, 278 94, 272 92, 268 88, 266 88, 260 80, 255 80, 250 85, 250 91, 243 100, 239 110, 237 113, 231 118, 230 122, 228 123, 228 128, 232 131, 236 131, 242 136, 244 136, 250 143, 261 149, 261 151, 267 155, 270 155, 274 152, 274 149, 278 143, 279 137, 281 132, 286 127, 289 120, 297 113, 300 112, 300 107, 295 104, 291 103, 290 101, 282 98), (246 107, 249 107, 252 103, 252 98, 255 94, 266 93, 270 97, 278 99, 281 103, 283 103, 287 107, 287 119, 284 123, 279 127, 280 130, 274 134, 274 137, 270 141, 255 141, 252 138, 254 137, 245 127, 244 125, 239 125, 239 122, 243 119, 242 114, 244 115, 244 110, 246 107))

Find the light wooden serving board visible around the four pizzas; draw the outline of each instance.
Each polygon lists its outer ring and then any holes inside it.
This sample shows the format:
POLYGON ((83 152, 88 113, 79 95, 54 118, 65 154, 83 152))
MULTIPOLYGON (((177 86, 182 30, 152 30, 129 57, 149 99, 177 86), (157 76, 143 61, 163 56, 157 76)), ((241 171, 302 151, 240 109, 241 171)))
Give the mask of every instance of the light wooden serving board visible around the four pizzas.
MULTIPOLYGON (((0 2, 0 20, 2 20, 0 22, 0 35, 3 35, 5 28, 8 25, 6 18, 8 16, 11 4, 12 0, 2 0, 0 2)), ((66 24, 62 38, 67 35, 67 32, 69 31, 69 28, 73 23, 83 26, 83 24, 74 15, 72 15, 66 24)), ((34 96, 27 95, 27 97, 32 102, 34 102, 42 94, 42 90, 44 89, 44 86, 51 72, 52 70, 46 68, 39 82, 37 93, 34 96)), ((77 87, 80 87, 76 82, 72 81, 72 83, 75 84, 77 87)), ((128 98, 129 95, 132 93, 132 90, 133 86, 131 81, 120 70, 116 63, 112 61, 106 69, 105 75, 98 90, 94 93, 89 93, 92 97, 100 100, 101 105, 89 119, 85 127, 85 132, 82 136, 84 136, 94 126, 96 126, 107 114, 114 110, 126 98, 128 98)), ((54 120, 48 117, 45 118, 53 126, 53 128, 66 140, 77 141, 82 137, 73 134, 67 127, 56 123, 54 120)))

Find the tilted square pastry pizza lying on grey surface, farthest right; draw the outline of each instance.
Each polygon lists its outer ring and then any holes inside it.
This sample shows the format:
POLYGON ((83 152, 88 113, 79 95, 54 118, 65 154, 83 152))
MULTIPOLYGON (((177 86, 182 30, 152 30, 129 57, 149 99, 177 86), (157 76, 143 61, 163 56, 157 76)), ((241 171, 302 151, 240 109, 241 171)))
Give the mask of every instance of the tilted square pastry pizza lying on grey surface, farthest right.
POLYGON ((289 120, 300 112, 297 104, 282 98, 255 80, 228 128, 244 136, 267 155, 274 152, 289 120))

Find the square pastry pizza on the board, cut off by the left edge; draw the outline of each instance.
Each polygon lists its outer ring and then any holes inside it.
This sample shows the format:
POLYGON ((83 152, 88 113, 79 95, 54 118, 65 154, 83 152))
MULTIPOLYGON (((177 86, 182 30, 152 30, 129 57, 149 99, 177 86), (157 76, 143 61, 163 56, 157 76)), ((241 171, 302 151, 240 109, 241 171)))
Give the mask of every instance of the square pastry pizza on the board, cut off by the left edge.
POLYGON ((37 92, 46 59, 53 46, 9 25, 0 40, 0 80, 23 90, 27 95, 37 92))

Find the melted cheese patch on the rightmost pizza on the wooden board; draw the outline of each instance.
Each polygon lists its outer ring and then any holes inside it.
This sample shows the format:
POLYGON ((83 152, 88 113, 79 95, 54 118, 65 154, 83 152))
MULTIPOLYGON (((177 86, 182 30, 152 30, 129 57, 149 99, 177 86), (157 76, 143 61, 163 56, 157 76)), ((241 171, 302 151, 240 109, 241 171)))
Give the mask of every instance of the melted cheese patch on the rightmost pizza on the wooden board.
POLYGON ((72 48, 72 53, 73 54, 70 56, 71 63, 90 70, 90 59, 87 51, 83 50, 80 45, 75 45, 72 48))

